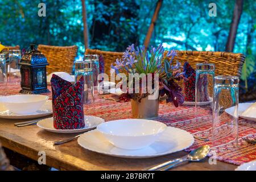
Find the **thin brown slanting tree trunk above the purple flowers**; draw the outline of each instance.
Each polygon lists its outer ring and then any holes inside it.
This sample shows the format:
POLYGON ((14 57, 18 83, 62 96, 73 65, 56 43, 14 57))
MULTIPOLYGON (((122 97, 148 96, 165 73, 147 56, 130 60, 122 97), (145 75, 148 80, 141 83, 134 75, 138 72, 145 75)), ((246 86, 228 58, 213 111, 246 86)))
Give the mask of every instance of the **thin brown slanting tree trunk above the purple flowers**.
POLYGON ((158 2, 156 3, 155 12, 154 12, 154 15, 152 16, 150 27, 148 28, 147 35, 144 40, 144 46, 146 49, 148 48, 148 46, 150 44, 152 32, 154 31, 154 27, 156 24, 156 20, 158 19, 158 14, 161 9, 162 3, 163 3, 163 0, 158 0, 158 2))

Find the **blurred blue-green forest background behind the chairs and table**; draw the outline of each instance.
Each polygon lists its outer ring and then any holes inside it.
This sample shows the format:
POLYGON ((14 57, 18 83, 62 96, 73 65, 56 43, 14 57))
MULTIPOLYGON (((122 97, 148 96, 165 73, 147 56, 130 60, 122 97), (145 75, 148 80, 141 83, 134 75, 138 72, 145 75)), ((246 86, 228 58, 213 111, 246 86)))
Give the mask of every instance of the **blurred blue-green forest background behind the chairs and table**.
MULTIPOLYGON (((149 46, 163 43, 167 49, 243 53, 246 64, 241 76, 241 96, 244 101, 255 99, 254 0, 86 0, 89 48, 124 51, 131 43, 142 45, 159 5, 149 46), (212 2, 217 5, 217 16, 208 14, 212 2), (228 39, 232 36, 236 36, 234 43, 228 39)), ((1 0, 0 12, 3 45, 77 45, 77 59, 85 52, 81 0, 1 0), (38 16, 38 4, 42 2, 46 3, 46 17, 38 16)))

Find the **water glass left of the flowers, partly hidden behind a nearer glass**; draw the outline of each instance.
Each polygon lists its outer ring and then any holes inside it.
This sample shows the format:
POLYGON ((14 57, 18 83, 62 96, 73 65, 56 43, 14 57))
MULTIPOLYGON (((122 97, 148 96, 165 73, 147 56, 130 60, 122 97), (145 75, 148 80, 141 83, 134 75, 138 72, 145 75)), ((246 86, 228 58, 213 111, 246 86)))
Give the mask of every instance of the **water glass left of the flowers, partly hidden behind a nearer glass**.
POLYGON ((84 60, 92 61, 93 85, 98 86, 98 75, 100 74, 100 63, 98 55, 84 55, 84 60))

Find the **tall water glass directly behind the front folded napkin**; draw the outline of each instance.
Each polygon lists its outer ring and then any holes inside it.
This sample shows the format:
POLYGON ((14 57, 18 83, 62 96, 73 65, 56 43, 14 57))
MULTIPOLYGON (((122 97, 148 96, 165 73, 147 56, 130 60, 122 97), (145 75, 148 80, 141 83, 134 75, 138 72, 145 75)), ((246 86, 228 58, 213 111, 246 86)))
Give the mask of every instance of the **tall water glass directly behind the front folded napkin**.
POLYGON ((84 76, 83 103, 92 104, 94 102, 92 61, 75 61, 75 82, 79 81, 81 76, 84 76))

